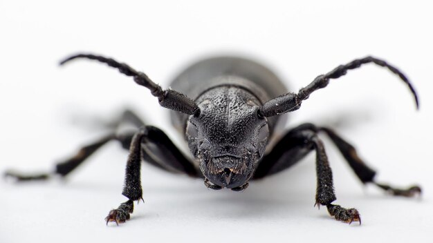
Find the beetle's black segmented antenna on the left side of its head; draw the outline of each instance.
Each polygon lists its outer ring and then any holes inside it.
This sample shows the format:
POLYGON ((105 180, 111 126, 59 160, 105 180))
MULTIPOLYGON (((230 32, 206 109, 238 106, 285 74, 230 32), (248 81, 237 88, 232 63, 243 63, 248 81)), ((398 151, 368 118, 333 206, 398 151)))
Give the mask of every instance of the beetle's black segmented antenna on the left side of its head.
POLYGON ((133 80, 138 85, 145 86, 150 90, 154 97, 158 97, 160 106, 169 108, 170 110, 176 110, 187 115, 193 115, 200 112, 199 106, 197 106, 192 99, 188 98, 182 93, 177 92, 176 90, 163 90, 158 84, 155 84, 154 81, 151 81, 151 79, 149 79, 144 72, 138 72, 127 64, 120 63, 114 59, 92 54, 77 54, 60 61, 60 65, 66 64, 68 61, 77 58, 86 58, 100 61, 104 64, 107 64, 108 66, 117 68, 119 72, 122 72, 124 75, 133 77, 133 80))

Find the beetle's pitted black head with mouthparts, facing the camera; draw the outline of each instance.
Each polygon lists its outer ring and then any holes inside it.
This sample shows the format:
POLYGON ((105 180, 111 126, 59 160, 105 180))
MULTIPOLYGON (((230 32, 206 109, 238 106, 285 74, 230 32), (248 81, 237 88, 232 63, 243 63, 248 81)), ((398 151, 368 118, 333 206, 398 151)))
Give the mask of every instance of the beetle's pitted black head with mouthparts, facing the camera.
POLYGON ((234 86, 213 88, 197 100, 199 115, 187 122, 186 137, 211 188, 246 188, 269 137, 259 101, 234 86))

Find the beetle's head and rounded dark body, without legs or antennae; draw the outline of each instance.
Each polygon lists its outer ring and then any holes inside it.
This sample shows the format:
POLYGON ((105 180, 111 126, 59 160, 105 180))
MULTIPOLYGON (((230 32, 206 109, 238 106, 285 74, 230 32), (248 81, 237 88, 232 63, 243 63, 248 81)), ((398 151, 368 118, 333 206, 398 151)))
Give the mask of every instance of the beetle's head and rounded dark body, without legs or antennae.
POLYGON ((288 92, 264 66, 247 59, 216 57, 199 61, 171 84, 199 104, 200 113, 172 112, 200 162, 206 185, 241 191, 248 186, 281 116, 263 117, 261 104, 288 92))

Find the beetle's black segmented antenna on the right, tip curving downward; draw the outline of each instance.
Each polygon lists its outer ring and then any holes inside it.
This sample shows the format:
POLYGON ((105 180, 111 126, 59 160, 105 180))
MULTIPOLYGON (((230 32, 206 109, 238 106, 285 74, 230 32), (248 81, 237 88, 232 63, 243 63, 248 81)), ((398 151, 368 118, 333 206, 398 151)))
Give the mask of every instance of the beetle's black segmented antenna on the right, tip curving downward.
POLYGON ((381 59, 377 59, 375 57, 365 57, 362 59, 353 60, 346 65, 340 65, 325 75, 319 75, 311 82, 311 84, 301 88, 297 94, 287 93, 286 95, 281 95, 274 99, 270 99, 260 108, 259 114, 264 117, 272 117, 274 115, 280 115, 282 113, 288 113, 297 110, 300 108, 302 101, 308 99, 311 93, 313 93, 315 90, 326 87, 329 84, 329 79, 338 79, 339 77, 346 75, 348 70, 360 68, 360 66, 363 64, 369 63, 374 63, 378 66, 388 68, 388 70, 394 72, 395 75, 398 75, 398 77, 400 77, 400 79, 407 84, 409 90, 414 96, 416 109, 419 108, 418 95, 416 95, 414 86, 412 86, 412 84, 409 82, 409 79, 403 75, 403 72, 400 72, 400 70, 394 66, 391 66, 390 64, 387 64, 386 61, 381 59))

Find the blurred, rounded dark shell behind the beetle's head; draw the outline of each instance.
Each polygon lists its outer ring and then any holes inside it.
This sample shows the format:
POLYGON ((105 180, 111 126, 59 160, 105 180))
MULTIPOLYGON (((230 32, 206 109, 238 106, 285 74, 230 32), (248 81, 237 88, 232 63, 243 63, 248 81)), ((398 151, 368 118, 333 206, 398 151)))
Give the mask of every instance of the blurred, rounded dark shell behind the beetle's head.
MULTIPOLYGON (((198 61, 181 72, 170 84, 170 88, 194 100, 200 99, 206 91, 217 86, 238 86, 254 95, 261 103, 259 105, 288 93, 286 86, 268 68, 239 57, 213 57, 198 61)), ((173 126, 185 134, 188 115, 176 111, 170 113, 173 126)), ((269 117, 270 134, 285 121, 285 115, 269 117)))

